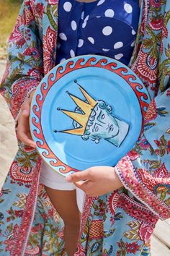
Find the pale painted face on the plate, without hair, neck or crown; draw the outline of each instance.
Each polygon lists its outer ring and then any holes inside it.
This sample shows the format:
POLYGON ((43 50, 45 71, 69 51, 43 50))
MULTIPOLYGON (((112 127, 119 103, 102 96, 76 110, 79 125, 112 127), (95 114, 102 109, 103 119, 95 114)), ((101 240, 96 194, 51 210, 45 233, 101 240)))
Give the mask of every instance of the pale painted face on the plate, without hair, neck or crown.
POLYGON ((93 113, 94 121, 89 132, 91 135, 103 139, 109 139, 117 136, 120 127, 117 124, 116 118, 107 113, 106 109, 101 109, 98 105, 95 106, 93 113))

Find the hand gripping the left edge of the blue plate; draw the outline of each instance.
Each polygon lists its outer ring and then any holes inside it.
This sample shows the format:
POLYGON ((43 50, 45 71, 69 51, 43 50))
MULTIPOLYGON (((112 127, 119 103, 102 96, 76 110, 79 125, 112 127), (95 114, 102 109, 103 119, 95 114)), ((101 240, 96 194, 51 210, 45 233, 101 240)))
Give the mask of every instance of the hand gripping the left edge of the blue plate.
POLYGON ((30 134, 30 125, 29 125, 29 117, 30 117, 30 105, 32 101, 32 97, 35 92, 30 94, 30 98, 28 98, 21 107, 21 112, 18 116, 18 126, 17 126, 17 137, 19 140, 24 142, 25 145, 29 145, 32 148, 36 148, 35 142, 32 140, 30 134))

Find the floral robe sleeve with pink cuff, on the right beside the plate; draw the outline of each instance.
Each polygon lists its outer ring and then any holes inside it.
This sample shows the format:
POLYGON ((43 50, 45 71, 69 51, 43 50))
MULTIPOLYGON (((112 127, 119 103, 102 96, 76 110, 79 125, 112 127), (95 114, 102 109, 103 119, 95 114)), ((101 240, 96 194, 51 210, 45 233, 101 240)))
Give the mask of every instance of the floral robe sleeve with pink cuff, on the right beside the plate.
POLYGON ((124 187, 159 218, 170 218, 170 89, 151 101, 140 140, 115 167, 124 187))

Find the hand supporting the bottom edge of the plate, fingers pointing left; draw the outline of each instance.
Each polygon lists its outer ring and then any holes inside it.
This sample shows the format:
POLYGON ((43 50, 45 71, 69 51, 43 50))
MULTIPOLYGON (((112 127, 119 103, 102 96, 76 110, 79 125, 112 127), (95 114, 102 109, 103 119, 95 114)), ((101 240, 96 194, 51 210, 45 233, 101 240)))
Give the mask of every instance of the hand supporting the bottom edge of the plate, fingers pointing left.
POLYGON ((97 197, 123 187, 115 173, 114 167, 97 166, 79 171, 66 177, 68 182, 73 182, 76 187, 84 190, 86 195, 97 197))

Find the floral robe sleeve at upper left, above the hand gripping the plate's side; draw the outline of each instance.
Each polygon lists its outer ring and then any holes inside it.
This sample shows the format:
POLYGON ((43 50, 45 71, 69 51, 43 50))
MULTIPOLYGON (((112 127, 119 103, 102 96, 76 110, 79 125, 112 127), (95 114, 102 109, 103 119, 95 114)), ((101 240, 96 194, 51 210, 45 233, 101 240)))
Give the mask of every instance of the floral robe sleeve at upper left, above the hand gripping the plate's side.
POLYGON ((30 1, 24 1, 9 37, 6 71, 0 84, 1 95, 14 119, 43 77, 42 40, 38 35, 35 10, 30 1))

